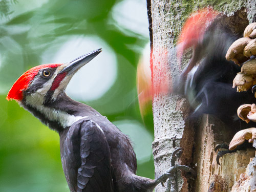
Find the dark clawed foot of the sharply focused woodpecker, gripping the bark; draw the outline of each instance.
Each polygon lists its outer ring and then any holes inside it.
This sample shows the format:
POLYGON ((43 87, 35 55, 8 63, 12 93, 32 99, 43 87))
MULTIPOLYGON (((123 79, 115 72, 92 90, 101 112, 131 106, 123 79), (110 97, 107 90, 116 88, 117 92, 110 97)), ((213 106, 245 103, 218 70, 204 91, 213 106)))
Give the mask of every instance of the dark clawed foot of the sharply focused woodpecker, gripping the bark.
POLYGON ((177 178, 177 171, 178 170, 183 170, 184 172, 190 172, 194 177, 196 177, 196 172, 190 168, 189 166, 186 165, 179 165, 179 164, 175 164, 175 161, 177 160, 177 157, 180 157, 182 153, 182 148, 177 148, 173 154, 172 157, 170 158, 170 168, 162 175, 160 175, 157 179, 156 179, 156 183, 160 183, 162 184, 163 187, 164 183, 166 182, 167 179, 170 180, 170 188, 167 191, 170 192, 176 192, 177 190, 177 186, 176 186, 176 178, 177 178))

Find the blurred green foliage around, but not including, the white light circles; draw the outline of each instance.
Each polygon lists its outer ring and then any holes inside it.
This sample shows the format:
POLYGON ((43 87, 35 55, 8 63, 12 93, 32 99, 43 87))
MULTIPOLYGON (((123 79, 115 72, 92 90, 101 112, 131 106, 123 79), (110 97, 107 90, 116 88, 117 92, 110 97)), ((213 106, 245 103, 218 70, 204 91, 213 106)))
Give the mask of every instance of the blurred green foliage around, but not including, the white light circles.
MULTIPOLYGON (((63 39, 72 35, 94 35, 103 39, 117 58, 115 83, 100 99, 87 104, 113 122, 136 121, 153 141, 152 114, 143 125, 136 93, 136 66, 148 38, 129 30, 129 27, 119 26, 113 19, 113 7, 120 2, 0 1, 1 192, 69 191, 60 162, 58 134, 5 97, 21 74, 43 64, 42 53, 58 50, 64 43, 63 39), (127 68, 127 65, 131 67, 127 68)), ((49 57, 50 60, 52 56, 49 57)), ((120 129, 130 133, 125 130, 129 129, 127 127, 120 129)), ((135 134, 140 135, 140 130, 135 134)), ((143 142, 143 139, 139 142, 136 138, 132 140, 136 142, 135 146, 143 142)), ((138 175, 154 178, 152 155, 138 162, 138 175)))

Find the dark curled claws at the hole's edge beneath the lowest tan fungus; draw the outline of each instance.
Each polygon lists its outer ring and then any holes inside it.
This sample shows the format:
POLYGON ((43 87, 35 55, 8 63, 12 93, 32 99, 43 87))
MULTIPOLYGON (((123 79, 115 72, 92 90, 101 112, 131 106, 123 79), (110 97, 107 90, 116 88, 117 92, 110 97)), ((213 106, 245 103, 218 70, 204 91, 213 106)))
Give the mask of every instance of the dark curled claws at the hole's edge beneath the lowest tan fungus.
POLYGON ((223 157, 225 154, 235 153, 238 150, 245 150, 248 147, 249 147, 248 143, 244 143, 242 145, 238 145, 237 148, 235 148, 234 150, 229 150, 228 149, 229 146, 225 143, 216 145, 215 152, 217 153, 218 150, 221 150, 221 151, 218 151, 217 157, 216 157, 216 161, 217 161, 218 165, 221 165, 220 158, 223 157), (224 151, 222 151, 222 149, 224 149, 224 151))

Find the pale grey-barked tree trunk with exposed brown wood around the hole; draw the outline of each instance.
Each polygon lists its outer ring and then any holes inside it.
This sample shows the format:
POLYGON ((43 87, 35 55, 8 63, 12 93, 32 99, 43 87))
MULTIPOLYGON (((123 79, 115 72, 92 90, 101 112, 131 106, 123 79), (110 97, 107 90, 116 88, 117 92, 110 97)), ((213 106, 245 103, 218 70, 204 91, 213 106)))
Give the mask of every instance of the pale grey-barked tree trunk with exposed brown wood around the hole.
MULTIPOLYGON (((158 177, 169 168, 170 155, 177 147, 184 148, 177 163, 189 165, 197 171, 197 179, 192 182, 189 182, 184 173, 178 172, 177 191, 250 191, 249 189, 236 190, 235 185, 237 188, 240 187, 237 181, 240 179, 242 182, 241 174, 245 174, 244 177, 247 176, 245 168, 250 158, 254 157, 254 151, 240 151, 236 154, 225 155, 221 159, 222 165, 217 165, 215 145, 229 142, 234 133, 225 131, 224 123, 210 115, 203 115, 196 121, 186 120, 190 113, 186 99, 179 95, 157 92, 156 84, 166 79, 174 82, 180 74, 176 62, 175 46, 182 25, 190 13, 198 8, 212 6, 227 16, 225 22, 233 31, 241 33, 249 23, 255 22, 255 2, 238 0, 151 0, 150 2, 148 0, 148 9, 151 4, 152 14, 151 69, 152 84, 155 89, 153 96, 155 175, 158 177)), ((256 160, 253 161, 256 162, 256 160)), ((251 175, 253 173, 252 171, 251 175)), ((166 187, 158 185, 156 191, 167 191, 169 185, 170 181, 165 183, 166 187)))

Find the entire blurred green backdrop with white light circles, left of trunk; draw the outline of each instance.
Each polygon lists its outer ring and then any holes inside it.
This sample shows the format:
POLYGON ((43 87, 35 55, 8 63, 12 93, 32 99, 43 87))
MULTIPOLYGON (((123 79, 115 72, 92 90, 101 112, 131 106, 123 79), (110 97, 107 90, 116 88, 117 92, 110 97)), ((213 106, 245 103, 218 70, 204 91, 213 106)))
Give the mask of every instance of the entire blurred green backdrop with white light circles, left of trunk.
POLYGON ((137 63, 149 41, 146 1, 2 0, 0 16, 0 191, 69 191, 58 134, 5 97, 29 68, 98 48, 103 52, 67 93, 130 135, 138 175, 154 178, 152 113, 143 122, 136 91, 137 63))

